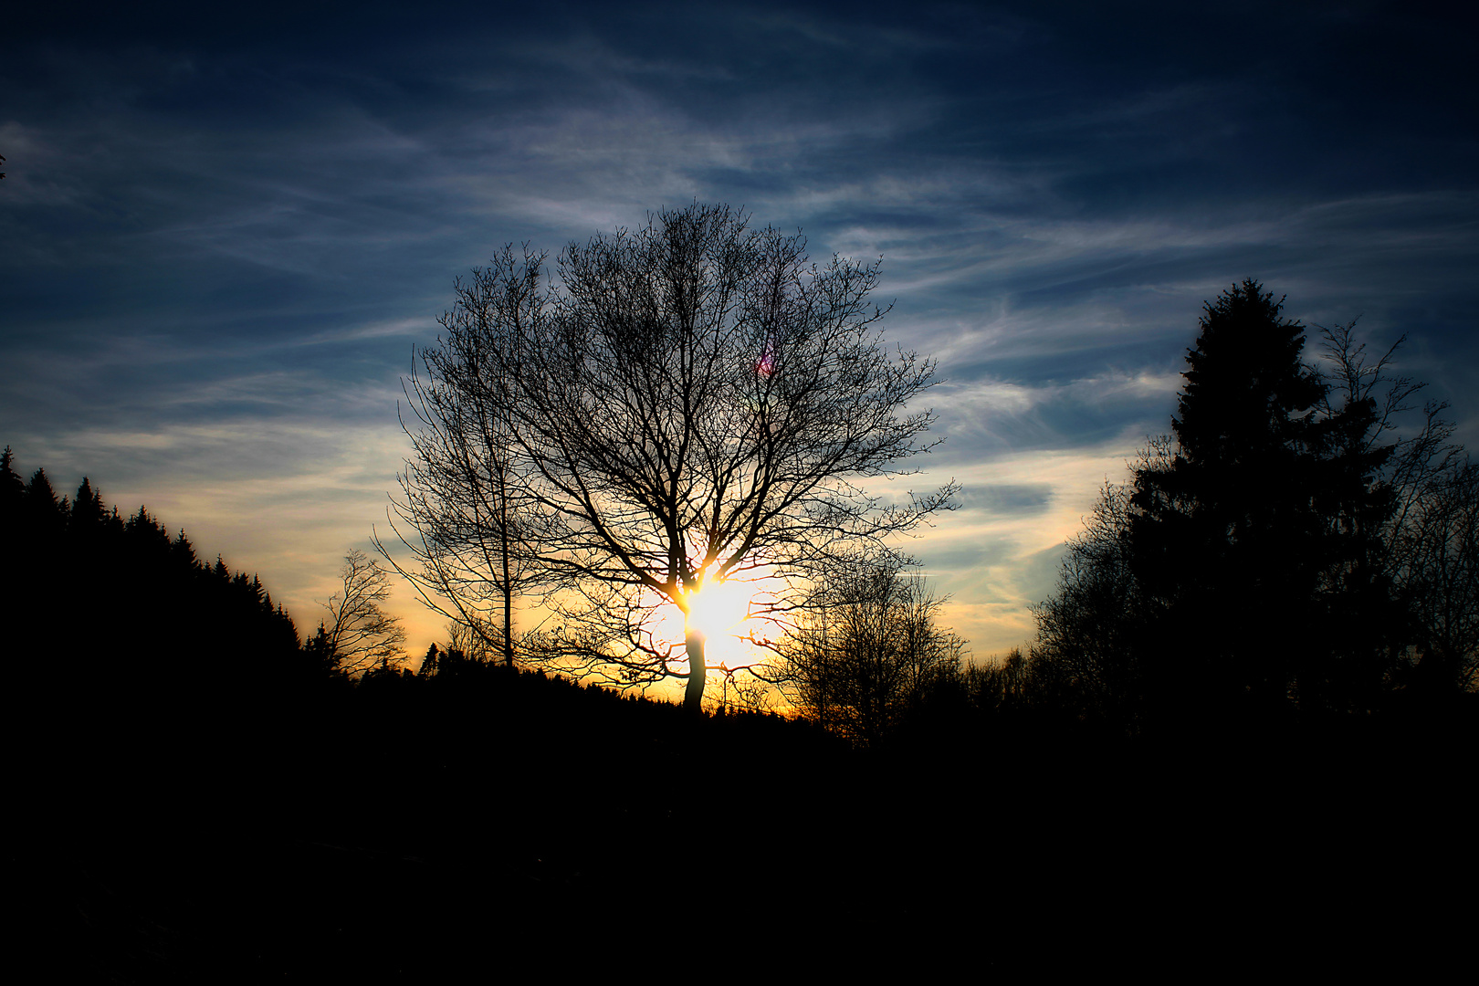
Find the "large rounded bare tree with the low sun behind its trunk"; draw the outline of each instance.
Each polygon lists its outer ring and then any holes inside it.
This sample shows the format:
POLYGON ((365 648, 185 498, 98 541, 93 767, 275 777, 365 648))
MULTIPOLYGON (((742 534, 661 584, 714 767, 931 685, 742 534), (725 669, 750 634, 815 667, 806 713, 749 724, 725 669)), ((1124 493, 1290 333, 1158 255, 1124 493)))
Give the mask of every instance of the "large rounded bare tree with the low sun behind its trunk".
POLYGON ((458 285, 411 381, 424 429, 399 516, 444 612, 485 585, 507 612, 519 578, 541 579, 561 627, 540 653, 621 683, 686 679, 697 710, 705 584, 763 572, 784 608, 839 553, 950 506, 952 486, 893 501, 858 482, 929 448, 932 414, 905 405, 933 364, 884 349, 877 263, 812 265, 802 237, 723 205, 571 244, 553 278, 546 260, 506 248, 458 285), (683 613, 680 643, 654 631, 663 606, 683 613))

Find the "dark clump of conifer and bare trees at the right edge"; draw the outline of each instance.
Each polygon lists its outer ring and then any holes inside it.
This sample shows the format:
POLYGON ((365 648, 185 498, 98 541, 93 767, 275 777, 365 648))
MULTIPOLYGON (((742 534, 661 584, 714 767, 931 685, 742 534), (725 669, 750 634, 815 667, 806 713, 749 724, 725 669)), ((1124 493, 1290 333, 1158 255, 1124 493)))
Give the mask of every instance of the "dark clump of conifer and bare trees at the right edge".
POLYGON ((1251 279, 1205 305, 1173 433, 1105 485, 1013 658, 1023 701, 1134 730, 1473 695, 1473 463, 1396 346, 1336 325, 1312 364, 1304 331, 1251 279))

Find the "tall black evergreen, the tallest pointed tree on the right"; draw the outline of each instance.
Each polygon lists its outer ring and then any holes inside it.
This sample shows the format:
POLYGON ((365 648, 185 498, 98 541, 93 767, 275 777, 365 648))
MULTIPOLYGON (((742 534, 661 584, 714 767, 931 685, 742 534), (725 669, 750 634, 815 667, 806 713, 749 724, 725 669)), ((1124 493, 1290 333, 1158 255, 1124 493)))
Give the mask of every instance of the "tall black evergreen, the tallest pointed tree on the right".
POLYGON ((1368 441, 1373 402, 1331 407, 1303 347, 1304 327, 1256 281, 1208 303, 1174 452, 1136 472, 1130 557, 1154 600, 1148 673, 1162 707, 1276 715, 1371 693, 1377 662, 1350 618, 1389 597, 1371 562, 1390 448, 1368 441))

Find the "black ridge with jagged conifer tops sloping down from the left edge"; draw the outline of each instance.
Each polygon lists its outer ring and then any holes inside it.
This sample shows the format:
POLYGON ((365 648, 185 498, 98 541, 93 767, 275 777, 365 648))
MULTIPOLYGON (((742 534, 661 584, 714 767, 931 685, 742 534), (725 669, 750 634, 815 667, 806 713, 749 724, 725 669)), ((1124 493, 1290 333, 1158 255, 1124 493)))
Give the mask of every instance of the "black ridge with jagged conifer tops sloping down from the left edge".
POLYGON ((201 562, 143 507, 124 519, 87 479, 72 498, 44 470, 21 482, 9 449, 0 491, 24 718, 77 767, 244 748, 311 687, 293 621, 256 577, 201 562))

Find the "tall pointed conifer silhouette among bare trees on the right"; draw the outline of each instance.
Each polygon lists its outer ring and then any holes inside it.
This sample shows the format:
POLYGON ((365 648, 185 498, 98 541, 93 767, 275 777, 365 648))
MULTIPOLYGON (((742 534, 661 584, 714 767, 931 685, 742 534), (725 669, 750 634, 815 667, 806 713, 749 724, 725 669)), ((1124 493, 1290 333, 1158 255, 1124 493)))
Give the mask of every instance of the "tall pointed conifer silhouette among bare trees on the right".
POLYGON ((1327 513, 1356 491, 1331 482, 1327 387, 1303 346, 1303 325, 1251 279, 1208 303, 1176 448, 1136 472, 1133 565, 1168 631, 1155 680, 1189 676, 1207 701, 1281 707, 1327 643, 1312 612, 1338 550, 1327 513))

